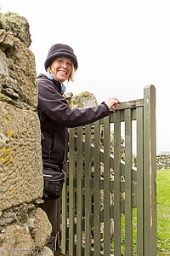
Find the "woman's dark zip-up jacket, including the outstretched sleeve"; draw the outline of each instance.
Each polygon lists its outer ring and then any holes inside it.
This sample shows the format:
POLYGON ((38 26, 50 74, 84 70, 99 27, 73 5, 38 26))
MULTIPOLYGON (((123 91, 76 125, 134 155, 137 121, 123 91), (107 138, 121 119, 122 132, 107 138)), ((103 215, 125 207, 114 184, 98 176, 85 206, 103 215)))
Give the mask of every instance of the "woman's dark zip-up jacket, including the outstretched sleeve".
POLYGON ((68 127, 87 125, 109 114, 105 103, 91 108, 71 109, 61 95, 61 85, 40 74, 38 116, 42 131, 42 161, 61 165, 68 144, 68 127), (66 147, 65 147, 66 145, 66 147))

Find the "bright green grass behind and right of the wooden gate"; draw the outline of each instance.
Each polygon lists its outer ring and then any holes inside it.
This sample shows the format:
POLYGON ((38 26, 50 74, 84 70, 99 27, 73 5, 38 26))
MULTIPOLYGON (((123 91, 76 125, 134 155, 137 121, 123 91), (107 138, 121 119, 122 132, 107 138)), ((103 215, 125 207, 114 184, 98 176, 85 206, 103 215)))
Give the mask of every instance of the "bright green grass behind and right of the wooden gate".
MULTIPOLYGON (((170 169, 158 170, 157 183, 157 255, 170 255, 170 169)), ((125 253, 125 216, 122 214, 122 254, 125 253)), ((133 255, 137 255, 137 211, 133 209, 133 255)), ((114 241, 112 241, 112 248, 114 241)), ((113 252, 113 249, 112 249, 113 252)))

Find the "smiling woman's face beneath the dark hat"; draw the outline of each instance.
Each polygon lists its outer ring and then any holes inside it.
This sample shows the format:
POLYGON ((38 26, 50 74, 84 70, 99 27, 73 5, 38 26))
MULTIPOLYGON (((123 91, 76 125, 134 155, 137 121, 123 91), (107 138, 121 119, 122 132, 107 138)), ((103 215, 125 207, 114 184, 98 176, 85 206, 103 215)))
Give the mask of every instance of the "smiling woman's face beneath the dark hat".
POLYGON ((65 56, 57 57, 55 61, 52 62, 51 67, 49 68, 50 73, 54 79, 59 80, 63 83, 65 80, 70 78, 72 70, 72 61, 70 58, 65 56))

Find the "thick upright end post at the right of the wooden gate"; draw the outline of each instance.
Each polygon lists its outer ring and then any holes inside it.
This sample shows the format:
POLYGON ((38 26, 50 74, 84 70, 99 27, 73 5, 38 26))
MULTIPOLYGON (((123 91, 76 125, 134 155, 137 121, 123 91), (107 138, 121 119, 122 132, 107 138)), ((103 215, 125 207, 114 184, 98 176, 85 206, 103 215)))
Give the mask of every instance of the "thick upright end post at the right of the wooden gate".
POLYGON ((157 255, 156 89, 144 87, 144 256, 157 255))

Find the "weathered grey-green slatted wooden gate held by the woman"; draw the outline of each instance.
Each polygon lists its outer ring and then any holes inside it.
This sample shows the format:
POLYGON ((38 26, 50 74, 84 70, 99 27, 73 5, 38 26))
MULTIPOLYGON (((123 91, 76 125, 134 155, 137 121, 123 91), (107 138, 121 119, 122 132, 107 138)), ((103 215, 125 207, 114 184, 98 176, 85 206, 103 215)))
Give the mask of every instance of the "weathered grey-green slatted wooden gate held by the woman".
POLYGON ((69 178, 62 195, 62 253, 120 256, 124 250, 126 256, 155 256, 155 87, 145 87, 144 99, 122 102, 109 117, 70 129, 69 137, 69 178))

